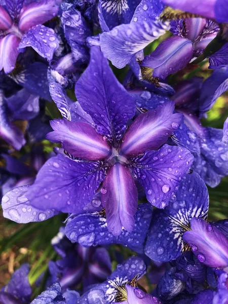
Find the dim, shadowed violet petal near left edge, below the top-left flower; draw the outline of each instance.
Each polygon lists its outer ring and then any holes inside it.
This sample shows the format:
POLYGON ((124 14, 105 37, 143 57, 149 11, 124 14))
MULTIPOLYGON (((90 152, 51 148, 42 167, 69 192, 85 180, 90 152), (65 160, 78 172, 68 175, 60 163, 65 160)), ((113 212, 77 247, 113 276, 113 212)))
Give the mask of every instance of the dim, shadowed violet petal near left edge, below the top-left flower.
POLYGON ((6 101, 14 120, 30 120, 40 111, 39 96, 32 95, 25 89, 6 98, 6 101))

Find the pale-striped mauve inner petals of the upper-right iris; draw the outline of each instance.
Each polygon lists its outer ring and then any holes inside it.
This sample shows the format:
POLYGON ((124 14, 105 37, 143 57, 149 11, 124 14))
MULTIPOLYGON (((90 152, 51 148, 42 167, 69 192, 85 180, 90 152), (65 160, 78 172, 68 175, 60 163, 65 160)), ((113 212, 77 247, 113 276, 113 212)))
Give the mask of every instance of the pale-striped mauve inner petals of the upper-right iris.
POLYGON ((202 18, 181 19, 170 24, 174 35, 160 43, 141 63, 143 67, 153 69, 153 77, 161 79, 200 56, 219 31, 215 22, 202 18))

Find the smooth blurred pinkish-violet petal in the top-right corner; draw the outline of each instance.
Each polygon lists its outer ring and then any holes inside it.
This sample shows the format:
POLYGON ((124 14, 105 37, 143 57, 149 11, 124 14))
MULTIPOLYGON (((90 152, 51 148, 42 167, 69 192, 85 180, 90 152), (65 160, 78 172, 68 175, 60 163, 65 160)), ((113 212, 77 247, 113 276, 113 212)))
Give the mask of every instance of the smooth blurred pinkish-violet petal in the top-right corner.
POLYGON ((226 0, 162 0, 164 4, 174 9, 184 12, 190 12, 212 20, 218 23, 228 22, 228 7, 226 0))

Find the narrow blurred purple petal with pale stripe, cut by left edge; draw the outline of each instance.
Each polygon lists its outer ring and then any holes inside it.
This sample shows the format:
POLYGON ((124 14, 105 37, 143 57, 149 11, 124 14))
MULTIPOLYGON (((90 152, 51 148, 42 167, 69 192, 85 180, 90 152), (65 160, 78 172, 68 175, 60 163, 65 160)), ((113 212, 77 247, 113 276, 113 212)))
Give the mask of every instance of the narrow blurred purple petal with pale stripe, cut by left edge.
POLYGON ((2 97, 0 96, 0 136, 15 149, 20 150, 26 142, 24 135, 21 130, 9 122, 6 113, 6 105, 1 99, 2 97))

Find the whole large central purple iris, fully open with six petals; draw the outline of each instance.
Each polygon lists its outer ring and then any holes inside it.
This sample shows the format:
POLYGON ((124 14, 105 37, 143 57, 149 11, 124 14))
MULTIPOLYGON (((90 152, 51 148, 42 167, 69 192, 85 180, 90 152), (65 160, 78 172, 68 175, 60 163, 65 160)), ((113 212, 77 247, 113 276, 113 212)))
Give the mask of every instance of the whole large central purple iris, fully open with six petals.
POLYGON ((182 123, 182 115, 173 114, 170 102, 138 116, 126 131, 135 104, 98 47, 92 48, 89 67, 75 87, 82 108, 53 93, 64 119, 51 121, 54 131, 47 138, 61 142, 77 160, 62 155, 50 159, 27 198, 44 210, 80 213, 103 182, 101 202, 108 230, 119 235, 124 226, 132 232, 138 206, 134 178, 144 187, 147 200, 164 208, 191 167, 193 157, 186 149, 161 147, 182 123))

